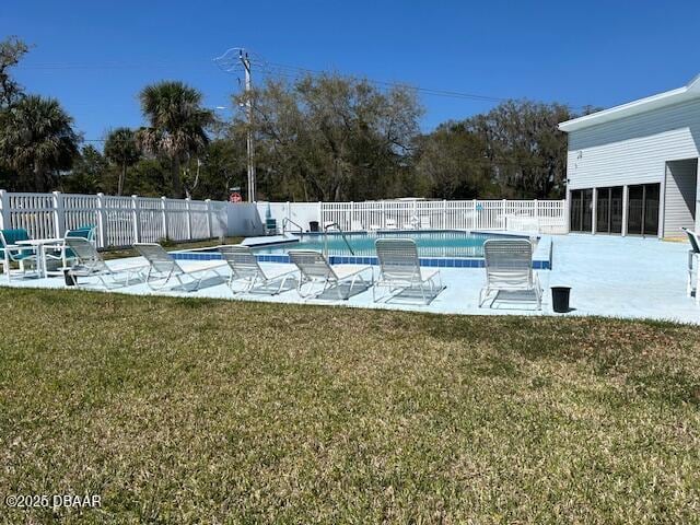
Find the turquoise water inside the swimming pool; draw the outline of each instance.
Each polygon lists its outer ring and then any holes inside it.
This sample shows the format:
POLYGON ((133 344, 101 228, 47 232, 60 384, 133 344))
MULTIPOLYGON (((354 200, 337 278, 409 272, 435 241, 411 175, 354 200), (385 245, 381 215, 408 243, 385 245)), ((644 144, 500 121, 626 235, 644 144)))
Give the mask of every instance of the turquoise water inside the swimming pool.
POLYGON ((290 249, 328 248, 329 255, 335 256, 374 256, 374 242, 382 237, 412 238, 418 245, 420 257, 483 257, 483 242, 502 235, 482 233, 467 233, 459 231, 441 232, 380 232, 380 233, 346 233, 345 240, 339 233, 303 234, 299 243, 284 243, 254 248, 256 254, 287 254, 290 249), (327 237, 327 238, 326 238, 327 237), (347 243, 346 243, 347 240, 347 243))

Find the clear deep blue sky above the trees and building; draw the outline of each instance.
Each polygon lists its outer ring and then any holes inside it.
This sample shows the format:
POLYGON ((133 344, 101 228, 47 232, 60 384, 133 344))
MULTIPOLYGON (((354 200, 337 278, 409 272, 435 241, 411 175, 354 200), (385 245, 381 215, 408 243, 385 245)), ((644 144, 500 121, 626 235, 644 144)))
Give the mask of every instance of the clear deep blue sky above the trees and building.
MULTIPOLYGON (((34 45, 16 77, 59 98, 88 140, 141 125, 137 94, 163 79, 192 84, 208 106, 230 106, 237 79, 211 61, 230 47, 273 63, 573 106, 609 107, 700 73, 697 1, 2 3, 0 37, 34 45)), ((421 102, 425 130, 494 104, 421 102)))

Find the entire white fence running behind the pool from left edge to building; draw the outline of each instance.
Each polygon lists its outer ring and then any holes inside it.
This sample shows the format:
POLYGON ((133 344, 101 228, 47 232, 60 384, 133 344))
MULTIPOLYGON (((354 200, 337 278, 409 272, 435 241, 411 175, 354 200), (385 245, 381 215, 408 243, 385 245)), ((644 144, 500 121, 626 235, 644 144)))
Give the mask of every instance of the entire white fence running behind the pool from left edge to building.
POLYGON ((24 228, 33 238, 62 237, 92 224, 97 246, 138 242, 198 241, 260 235, 268 213, 279 230, 308 231, 311 222, 343 231, 385 229, 508 230, 568 233, 564 200, 384 200, 370 202, 230 203, 109 197, 106 195, 14 194, 0 190, 0 229, 24 228))

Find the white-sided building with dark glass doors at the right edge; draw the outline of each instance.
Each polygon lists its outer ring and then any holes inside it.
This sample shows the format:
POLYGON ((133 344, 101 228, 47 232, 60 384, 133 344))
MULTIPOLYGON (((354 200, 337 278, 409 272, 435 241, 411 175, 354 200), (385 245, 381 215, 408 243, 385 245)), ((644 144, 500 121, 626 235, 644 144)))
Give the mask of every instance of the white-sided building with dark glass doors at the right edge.
POLYGON ((559 129, 572 232, 672 237, 700 225, 700 77, 559 129))

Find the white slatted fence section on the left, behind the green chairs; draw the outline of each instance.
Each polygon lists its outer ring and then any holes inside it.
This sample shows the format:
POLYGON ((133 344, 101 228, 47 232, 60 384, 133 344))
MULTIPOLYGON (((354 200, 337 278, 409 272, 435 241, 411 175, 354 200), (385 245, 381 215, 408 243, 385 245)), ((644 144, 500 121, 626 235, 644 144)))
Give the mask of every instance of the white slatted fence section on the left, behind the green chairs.
POLYGON ((67 230, 90 224, 97 229, 101 248, 165 238, 199 241, 229 234, 228 206, 228 202, 165 197, 0 190, 0 228, 23 228, 33 238, 54 238, 61 237, 67 230))

